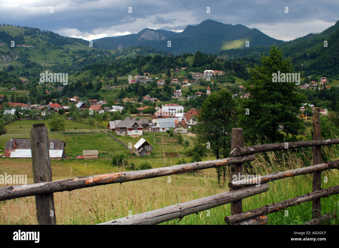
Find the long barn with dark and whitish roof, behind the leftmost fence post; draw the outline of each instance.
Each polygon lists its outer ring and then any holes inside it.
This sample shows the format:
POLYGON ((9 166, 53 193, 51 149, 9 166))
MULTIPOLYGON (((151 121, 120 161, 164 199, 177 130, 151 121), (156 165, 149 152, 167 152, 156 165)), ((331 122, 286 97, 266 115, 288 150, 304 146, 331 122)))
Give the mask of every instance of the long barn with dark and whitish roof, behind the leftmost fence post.
MULTIPOLYGON (((65 158, 65 142, 48 139, 49 158, 65 158)), ((4 158, 32 158, 30 139, 11 139, 5 145, 4 158)))

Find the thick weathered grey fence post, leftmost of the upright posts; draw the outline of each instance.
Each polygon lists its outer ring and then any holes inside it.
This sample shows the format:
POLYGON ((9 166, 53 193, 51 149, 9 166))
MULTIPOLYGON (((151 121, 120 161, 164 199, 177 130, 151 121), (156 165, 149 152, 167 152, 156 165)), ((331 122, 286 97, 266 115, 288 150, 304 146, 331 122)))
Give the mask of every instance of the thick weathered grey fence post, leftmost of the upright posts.
MULTIPOLYGON (((51 182, 52 169, 48 150, 50 144, 45 124, 33 124, 30 136, 34 183, 51 182)), ((35 205, 38 225, 56 224, 53 193, 36 195, 35 205)))

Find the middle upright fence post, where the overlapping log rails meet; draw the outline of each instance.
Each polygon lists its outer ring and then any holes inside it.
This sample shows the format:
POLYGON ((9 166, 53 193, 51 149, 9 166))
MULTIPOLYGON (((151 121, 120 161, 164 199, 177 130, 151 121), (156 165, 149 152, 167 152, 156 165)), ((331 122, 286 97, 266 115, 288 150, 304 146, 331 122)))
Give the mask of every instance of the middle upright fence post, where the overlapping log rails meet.
MULTIPOLYGON (((231 151, 235 148, 242 147, 242 145, 242 128, 232 128, 231 151)), ((241 175, 241 171, 242 163, 231 164, 230 181, 232 182, 233 175, 237 175, 237 180, 240 180, 238 177, 241 175)), ((242 213, 242 200, 231 202, 231 215, 237 213, 242 213)))

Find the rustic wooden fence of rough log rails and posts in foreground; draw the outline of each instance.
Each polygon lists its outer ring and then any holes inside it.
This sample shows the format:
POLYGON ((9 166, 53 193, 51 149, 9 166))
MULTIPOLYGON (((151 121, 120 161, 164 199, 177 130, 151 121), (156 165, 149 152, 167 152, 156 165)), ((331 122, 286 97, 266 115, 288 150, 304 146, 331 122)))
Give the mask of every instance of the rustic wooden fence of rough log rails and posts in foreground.
MULTIPOLYGON (((111 134, 110 134, 111 135, 111 134)), ((114 139, 111 135, 111 137, 114 139)), ((80 188, 98 185, 123 183, 128 181, 156 178, 167 175, 191 172, 207 168, 216 168, 230 165, 230 177, 241 174, 242 163, 254 161, 255 153, 294 149, 299 147, 313 147, 313 166, 282 171, 240 181, 231 181, 230 191, 220 194, 178 203, 172 206, 139 213, 132 216, 107 221, 101 224, 158 224, 168 220, 183 218, 183 216, 207 210, 213 207, 231 203, 231 215, 225 217, 225 222, 235 225, 267 224, 267 214, 280 211, 291 206, 312 201, 313 219, 304 224, 319 224, 335 216, 335 212, 320 216, 320 198, 339 193, 339 185, 326 189, 320 188, 320 175, 323 170, 339 169, 339 160, 321 163, 320 148, 323 145, 339 144, 339 139, 320 140, 319 109, 313 115, 313 140, 277 144, 263 144, 258 146, 242 147, 242 129, 232 129, 231 157, 180 164, 155 169, 125 171, 118 173, 93 175, 73 179, 52 181, 51 163, 48 156, 48 135, 44 124, 34 124, 31 130, 31 147, 34 183, 30 185, 7 186, 0 188, 0 201, 27 196, 36 196, 36 210, 38 224, 56 224, 54 213, 54 192, 71 191, 80 188), (313 192, 297 196, 292 199, 272 203, 250 211, 242 211, 242 199, 268 191, 268 182, 287 177, 313 173, 313 192), (260 186, 256 183, 260 182, 260 186)))

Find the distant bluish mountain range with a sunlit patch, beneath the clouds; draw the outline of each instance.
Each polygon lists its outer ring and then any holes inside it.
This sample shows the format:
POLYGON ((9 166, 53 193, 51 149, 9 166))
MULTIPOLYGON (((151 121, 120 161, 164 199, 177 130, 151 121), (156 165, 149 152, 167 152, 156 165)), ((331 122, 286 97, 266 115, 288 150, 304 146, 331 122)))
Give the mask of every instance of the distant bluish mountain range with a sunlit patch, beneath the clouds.
POLYGON ((166 30, 145 28, 138 34, 106 37, 94 40, 94 42, 103 49, 117 49, 137 44, 148 45, 175 55, 195 53, 198 50, 208 54, 231 48, 245 48, 247 40, 250 46, 284 42, 273 39, 255 28, 250 29, 241 24, 223 24, 213 20, 205 20, 196 26, 188 25, 183 32, 178 34, 164 31, 166 30), (167 47, 168 40, 171 41, 171 47, 167 47))

